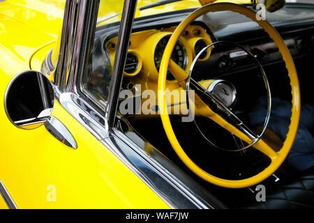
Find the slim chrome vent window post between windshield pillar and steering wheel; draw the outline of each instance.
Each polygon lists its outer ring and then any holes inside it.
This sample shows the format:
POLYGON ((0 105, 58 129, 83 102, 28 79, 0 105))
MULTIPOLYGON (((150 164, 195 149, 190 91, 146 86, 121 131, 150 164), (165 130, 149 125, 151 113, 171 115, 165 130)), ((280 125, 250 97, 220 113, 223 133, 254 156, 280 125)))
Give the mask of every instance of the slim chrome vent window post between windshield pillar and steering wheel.
POLYGON ((126 65, 126 56, 128 54, 128 46, 133 28, 136 5, 137 0, 124 1, 124 10, 122 12, 117 50, 114 58, 112 83, 110 85, 110 94, 107 101, 108 106, 105 113, 105 118, 107 118, 110 127, 114 127, 115 118, 117 116, 118 98, 121 90, 122 79, 124 77, 124 67, 126 65))

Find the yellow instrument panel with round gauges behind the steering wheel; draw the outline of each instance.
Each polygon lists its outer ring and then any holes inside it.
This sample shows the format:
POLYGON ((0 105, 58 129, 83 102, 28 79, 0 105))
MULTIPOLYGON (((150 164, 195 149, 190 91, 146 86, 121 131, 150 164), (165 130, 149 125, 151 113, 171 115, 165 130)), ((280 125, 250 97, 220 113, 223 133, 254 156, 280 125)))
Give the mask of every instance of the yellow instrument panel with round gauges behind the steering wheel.
MULTIPOLYGON (((142 77, 156 82, 163 52, 174 29, 176 29, 175 26, 132 33, 124 75, 127 77, 142 77)), ((188 72, 195 56, 211 43, 210 35, 206 29, 199 25, 190 25, 175 45, 172 60, 188 72)), ((114 63, 116 46, 117 37, 111 38, 103 44, 112 64, 114 63)), ((199 60, 205 61, 209 56, 210 52, 206 51, 200 56, 199 60)), ((167 80, 174 80, 170 71, 167 73, 167 80)))

